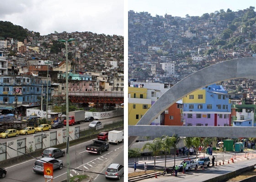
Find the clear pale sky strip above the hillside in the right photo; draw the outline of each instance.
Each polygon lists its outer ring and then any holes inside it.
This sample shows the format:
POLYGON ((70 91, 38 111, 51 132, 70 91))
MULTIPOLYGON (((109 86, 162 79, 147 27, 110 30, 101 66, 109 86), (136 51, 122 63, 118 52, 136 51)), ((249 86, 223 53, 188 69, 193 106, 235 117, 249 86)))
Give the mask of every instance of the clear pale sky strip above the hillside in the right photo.
POLYGON ((256 7, 256 0, 128 0, 128 10, 134 12, 147 11, 152 16, 172 15, 186 17, 202 16, 229 8, 232 11, 256 7))

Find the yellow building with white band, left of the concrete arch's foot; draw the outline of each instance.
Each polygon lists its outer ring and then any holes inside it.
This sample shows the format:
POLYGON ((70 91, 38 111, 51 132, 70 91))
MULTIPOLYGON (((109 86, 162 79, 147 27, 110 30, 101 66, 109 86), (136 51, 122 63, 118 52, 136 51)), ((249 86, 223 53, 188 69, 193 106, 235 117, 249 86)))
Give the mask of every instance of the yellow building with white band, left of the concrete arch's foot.
POLYGON ((151 107, 147 88, 128 87, 128 125, 136 125, 151 107))

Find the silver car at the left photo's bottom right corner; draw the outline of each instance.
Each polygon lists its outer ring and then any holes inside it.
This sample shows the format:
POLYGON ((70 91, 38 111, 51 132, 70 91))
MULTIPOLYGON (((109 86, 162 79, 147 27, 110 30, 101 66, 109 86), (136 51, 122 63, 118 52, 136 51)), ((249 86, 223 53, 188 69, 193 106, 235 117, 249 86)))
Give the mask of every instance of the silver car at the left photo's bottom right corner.
POLYGON ((106 171, 106 178, 116 178, 120 179, 120 177, 123 175, 124 167, 122 164, 116 164, 112 163, 107 167, 106 171))

